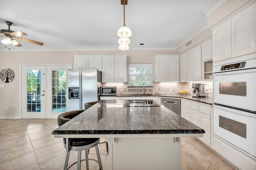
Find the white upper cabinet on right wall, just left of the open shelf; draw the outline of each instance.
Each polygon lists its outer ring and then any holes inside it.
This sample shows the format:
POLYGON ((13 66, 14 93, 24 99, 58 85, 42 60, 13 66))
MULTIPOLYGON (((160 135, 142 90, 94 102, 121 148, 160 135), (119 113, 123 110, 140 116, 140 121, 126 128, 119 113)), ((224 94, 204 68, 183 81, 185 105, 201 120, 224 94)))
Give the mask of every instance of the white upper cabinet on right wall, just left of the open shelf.
POLYGON ((187 81, 201 80, 201 46, 198 45, 186 52, 187 81))

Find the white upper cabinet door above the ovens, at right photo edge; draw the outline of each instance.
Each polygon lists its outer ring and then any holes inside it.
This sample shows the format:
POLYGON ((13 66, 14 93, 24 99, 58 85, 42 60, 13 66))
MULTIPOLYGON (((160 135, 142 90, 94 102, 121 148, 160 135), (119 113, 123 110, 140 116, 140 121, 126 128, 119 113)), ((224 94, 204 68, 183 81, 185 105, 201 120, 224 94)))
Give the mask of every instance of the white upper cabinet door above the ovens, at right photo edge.
POLYGON ((256 52, 256 3, 231 19, 231 57, 256 52))

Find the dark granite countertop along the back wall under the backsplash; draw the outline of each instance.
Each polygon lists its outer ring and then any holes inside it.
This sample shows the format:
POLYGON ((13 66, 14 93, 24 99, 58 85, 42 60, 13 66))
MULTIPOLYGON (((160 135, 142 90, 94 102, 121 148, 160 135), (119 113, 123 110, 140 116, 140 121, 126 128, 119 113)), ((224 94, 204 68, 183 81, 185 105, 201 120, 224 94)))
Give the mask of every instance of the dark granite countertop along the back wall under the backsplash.
POLYGON ((132 95, 132 94, 118 94, 116 96, 100 96, 100 97, 166 97, 166 98, 184 98, 195 102, 212 105, 212 98, 194 98, 192 95, 175 95, 175 94, 152 94, 152 95, 132 95))

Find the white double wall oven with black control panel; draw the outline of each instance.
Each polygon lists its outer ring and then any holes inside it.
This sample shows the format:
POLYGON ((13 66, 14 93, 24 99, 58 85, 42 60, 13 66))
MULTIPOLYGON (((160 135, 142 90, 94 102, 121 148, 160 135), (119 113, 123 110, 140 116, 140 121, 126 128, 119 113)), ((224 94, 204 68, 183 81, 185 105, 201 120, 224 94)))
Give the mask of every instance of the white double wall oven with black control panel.
POLYGON ((256 159, 256 56, 213 72, 214 135, 256 159))

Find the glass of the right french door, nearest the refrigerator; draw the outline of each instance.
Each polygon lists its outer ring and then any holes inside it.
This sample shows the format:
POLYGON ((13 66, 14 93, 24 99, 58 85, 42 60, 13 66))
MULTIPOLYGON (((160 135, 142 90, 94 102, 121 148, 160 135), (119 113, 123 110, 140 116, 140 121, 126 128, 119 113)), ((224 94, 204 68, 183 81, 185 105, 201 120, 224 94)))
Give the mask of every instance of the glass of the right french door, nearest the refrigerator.
POLYGON ((52 112, 66 111, 66 70, 52 70, 52 112))

